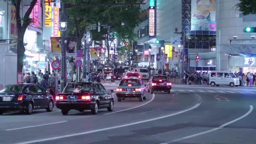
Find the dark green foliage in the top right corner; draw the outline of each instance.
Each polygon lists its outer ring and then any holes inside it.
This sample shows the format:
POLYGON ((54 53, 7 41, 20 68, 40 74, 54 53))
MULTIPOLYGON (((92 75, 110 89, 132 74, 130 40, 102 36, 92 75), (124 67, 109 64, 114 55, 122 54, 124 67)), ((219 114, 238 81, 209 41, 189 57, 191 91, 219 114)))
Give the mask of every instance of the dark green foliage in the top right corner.
POLYGON ((256 14, 256 0, 239 0, 237 8, 243 15, 256 14))

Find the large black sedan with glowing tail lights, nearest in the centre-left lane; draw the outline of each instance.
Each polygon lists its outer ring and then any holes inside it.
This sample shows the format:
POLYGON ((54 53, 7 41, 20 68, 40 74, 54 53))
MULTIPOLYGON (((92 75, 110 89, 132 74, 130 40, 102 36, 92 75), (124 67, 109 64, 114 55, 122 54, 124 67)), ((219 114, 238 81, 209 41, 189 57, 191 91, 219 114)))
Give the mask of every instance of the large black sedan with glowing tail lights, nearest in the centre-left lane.
POLYGON ((101 83, 69 83, 64 91, 56 96, 56 107, 61 109, 63 115, 67 115, 71 109, 80 112, 88 109, 96 115, 98 109, 107 108, 109 112, 113 111, 114 101, 114 96, 107 93, 101 83))

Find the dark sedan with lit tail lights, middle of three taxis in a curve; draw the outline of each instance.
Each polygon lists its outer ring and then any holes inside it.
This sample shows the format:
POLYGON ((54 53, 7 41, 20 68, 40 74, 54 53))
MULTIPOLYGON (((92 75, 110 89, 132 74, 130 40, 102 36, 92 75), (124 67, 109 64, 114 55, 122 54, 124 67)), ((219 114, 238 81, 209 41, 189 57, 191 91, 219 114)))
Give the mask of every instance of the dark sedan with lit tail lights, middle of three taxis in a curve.
POLYGON ((147 99, 146 85, 142 80, 127 78, 120 81, 116 91, 117 101, 122 101, 126 98, 139 98, 139 101, 147 99))

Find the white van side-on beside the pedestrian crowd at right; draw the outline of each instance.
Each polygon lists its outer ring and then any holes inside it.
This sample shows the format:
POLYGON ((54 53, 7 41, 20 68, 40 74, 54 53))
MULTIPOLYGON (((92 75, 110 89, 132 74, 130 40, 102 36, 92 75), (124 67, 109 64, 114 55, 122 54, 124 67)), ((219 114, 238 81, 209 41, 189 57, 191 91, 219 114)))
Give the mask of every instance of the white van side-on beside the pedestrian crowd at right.
POLYGON ((236 77, 233 72, 227 71, 211 71, 209 83, 211 86, 230 85, 232 87, 240 84, 239 78, 236 77))

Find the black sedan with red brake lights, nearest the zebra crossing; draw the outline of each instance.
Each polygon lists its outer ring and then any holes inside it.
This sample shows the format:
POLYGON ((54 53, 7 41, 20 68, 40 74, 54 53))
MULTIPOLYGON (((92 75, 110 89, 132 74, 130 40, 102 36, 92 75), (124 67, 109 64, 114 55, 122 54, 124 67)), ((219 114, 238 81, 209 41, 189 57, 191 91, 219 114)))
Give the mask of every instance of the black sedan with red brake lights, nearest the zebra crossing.
POLYGON ((169 82, 168 77, 164 75, 153 76, 148 86, 150 87, 151 94, 154 93, 154 91, 171 93, 171 82, 169 82))

